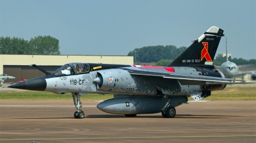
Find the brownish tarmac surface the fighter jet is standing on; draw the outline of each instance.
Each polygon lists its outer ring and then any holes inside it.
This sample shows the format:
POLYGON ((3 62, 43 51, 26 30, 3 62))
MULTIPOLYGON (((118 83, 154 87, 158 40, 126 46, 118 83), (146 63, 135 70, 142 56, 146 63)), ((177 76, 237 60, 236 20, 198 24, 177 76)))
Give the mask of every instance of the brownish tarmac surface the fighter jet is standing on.
POLYGON ((189 102, 177 116, 113 115, 83 101, 0 100, 0 142, 256 142, 256 101, 189 102))

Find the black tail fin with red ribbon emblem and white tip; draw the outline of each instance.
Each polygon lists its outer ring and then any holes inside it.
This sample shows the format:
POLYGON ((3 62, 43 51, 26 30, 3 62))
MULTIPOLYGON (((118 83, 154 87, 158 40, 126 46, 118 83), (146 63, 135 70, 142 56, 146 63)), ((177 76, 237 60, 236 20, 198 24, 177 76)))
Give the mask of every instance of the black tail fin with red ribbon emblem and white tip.
POLYGON ((169 66, 204 66, 212 64, 223 30, 219 27, 210 27, 202 36, 193 41, 179 57, 169 66))

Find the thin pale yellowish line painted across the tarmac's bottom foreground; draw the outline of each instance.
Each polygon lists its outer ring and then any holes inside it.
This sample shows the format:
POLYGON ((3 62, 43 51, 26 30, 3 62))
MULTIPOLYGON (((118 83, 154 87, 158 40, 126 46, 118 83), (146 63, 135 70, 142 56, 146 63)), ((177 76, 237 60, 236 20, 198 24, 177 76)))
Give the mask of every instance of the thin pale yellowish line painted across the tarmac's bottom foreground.
POLYGON ((79 138, 32 138, 32 139, 0 139, 0 141, 17 140, 88 140, 88 139, 164 139, 164 138, 204 138, 204 137, 256 137, 256 135, 188 135, 188 136, 159 136, 159 137, 79 137, 79 138))

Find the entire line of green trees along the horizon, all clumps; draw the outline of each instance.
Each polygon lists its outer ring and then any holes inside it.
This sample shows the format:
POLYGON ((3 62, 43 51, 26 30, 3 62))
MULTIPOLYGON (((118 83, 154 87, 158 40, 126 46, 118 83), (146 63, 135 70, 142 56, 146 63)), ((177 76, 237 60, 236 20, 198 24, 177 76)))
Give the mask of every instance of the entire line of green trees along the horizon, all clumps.
MULTIPOLYGON (((156 63, 157 66, 168 66, 173 59, 178 57, 187 47, 177 48, 175 45, 157 45, 136 48, 127 56, 134 56, 134 63, 156 63)), ((0 54, 28 54, 28 55, 60 55, 59 40, 52 36, 37 36, 29 41, 23 38, 8 36, 0 37, 0 54)), ((213 64, 220 66, 226 61, 226 57, 217 56, 213 64)), ((253 64, 256 59, 231 58, 229 61, 237 65, 253 64)))

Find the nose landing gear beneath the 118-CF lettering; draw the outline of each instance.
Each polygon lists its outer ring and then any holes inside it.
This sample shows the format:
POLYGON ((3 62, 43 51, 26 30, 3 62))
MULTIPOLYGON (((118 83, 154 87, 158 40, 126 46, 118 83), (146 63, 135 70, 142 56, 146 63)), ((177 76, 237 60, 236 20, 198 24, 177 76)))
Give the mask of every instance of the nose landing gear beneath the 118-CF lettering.
POLYGON ((76 112, 74 112, 74 117, 76 119, 83 119, 84 118, 84 111, 81 109, 82 108, 82 102, 80 101, 80 94, 79 93, 72 93, 74 105, 77 109, 76 112))

